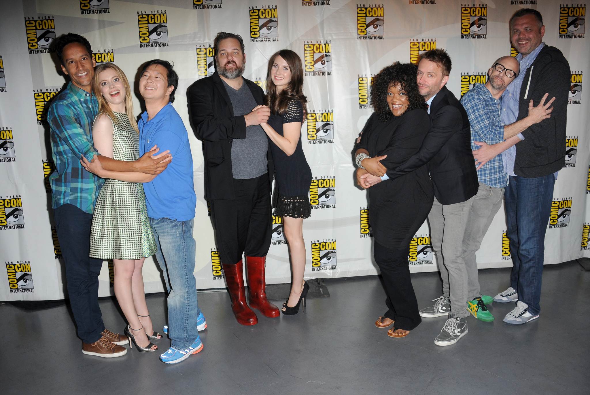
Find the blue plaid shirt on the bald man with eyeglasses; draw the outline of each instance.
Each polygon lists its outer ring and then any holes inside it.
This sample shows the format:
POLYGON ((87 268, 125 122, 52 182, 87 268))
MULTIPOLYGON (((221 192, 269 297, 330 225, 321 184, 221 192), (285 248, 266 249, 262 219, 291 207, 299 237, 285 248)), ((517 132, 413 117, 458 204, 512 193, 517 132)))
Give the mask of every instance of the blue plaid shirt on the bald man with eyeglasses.
MULTIPOLYGON (((480 146, 474 141, 484 141, 487 144, 497 144, 504 141, 504 124, 501 121, 501 97, 491 96, 486 85, 475 84, 463 95, 461 104, 467 111, 471 124, 471 149, 478 150, 480 146)), ((503 188, 508 185, 508 175, 504 170, 502 156, 497 155, 477 170, 479 182, 487 186, 503 188)))

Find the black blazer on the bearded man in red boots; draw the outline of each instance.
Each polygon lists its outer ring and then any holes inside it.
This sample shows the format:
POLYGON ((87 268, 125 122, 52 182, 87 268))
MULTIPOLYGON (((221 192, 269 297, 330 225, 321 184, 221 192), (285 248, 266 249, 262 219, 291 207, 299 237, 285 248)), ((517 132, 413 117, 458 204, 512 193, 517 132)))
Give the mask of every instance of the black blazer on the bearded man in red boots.
MULTIPOLYGON (((264 104, 264 91, 253 81, 244 78, 257 104, 264 104)), ((234 182, 231 170, 231 143, 246 138, 244 116, 234 117, 234 107, 221 77, 195 81, 188 88, 188 103, 196 136, 203 141, 205 157, 205 199, 234 200, 234 182)), ((268 182, 274 176, 273 155, 268 144, 268 182)))

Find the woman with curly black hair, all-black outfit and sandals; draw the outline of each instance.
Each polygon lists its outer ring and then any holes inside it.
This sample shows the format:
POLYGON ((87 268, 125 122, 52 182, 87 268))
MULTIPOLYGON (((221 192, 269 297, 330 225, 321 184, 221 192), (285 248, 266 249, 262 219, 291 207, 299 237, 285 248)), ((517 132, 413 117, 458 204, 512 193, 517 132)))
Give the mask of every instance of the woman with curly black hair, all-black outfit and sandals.
POLYGON ((373 254, 387 294, 388 311, 375 326, 395 324, 387 333, 390 337, 407 336, 421 322, 409 277, 409 242, 427 218, 434 199, 426 166, 396 179, 386 177, 387 169, 395 169, 418 152, 430 130, 416 73, 416 65, 396 62, 375 76, 371 87, 375 113, 367 121, 355 152, 357 182, 369 189, 373 254))

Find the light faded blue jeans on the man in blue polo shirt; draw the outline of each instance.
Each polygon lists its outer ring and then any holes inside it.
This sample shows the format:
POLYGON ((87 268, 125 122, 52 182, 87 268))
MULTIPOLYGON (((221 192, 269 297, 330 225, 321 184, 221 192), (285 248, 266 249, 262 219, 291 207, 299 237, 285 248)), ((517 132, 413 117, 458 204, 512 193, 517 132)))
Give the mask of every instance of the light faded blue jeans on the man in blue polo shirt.
POLYGON ((172 347, 185 350, 199 336, 196 321, 199 305, 196 301, 195 239, 193 220, 169 218, 149 219, 156 238, 156 258, 164 272, 168 289, 168 336, 172 347))

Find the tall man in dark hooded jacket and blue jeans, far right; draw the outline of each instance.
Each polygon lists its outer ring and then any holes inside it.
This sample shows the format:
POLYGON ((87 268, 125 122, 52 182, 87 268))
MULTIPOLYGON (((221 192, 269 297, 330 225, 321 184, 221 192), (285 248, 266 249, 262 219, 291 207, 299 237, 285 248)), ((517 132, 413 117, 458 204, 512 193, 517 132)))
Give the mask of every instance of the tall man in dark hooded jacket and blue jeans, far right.
POLYGON ((516 60, 521 71, 503 93, 501 120, 503 124, 523 120, 531 102, 542 103, 543 98, 555 97, 550 119, 518 133, 521 141, 517 147, 513 139, 482 146, 474 152, 480 162, 503 152, 509 176, 504 197, 506 233, 514 266, 510 287, 496 295, 494 301, 517 301, 514 310, 504 318, 504 322, 514 325, 539 318, 545 232, 557 172, 565 164, 571 72, 562 52, 542 42, 544 34, 543 17, 535 9, 520 9, 510 18, 512 45, 519 51, 516 60))

